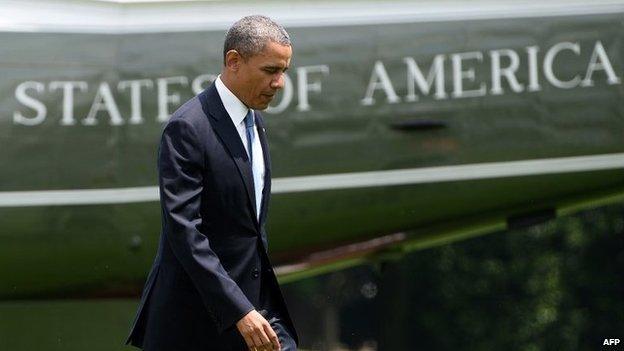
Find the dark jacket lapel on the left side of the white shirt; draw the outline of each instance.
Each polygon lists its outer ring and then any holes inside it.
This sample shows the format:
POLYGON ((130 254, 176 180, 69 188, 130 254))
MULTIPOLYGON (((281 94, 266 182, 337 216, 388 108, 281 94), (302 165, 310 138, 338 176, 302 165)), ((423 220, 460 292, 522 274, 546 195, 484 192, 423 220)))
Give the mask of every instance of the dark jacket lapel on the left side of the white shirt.
POLYGON ((234 159, 238 172, 243 179, 245 189, 247 191, 247 198, 249 199, 250 209, 252 210, 252 217, 255 225, 259 228, 258 220, 256 218, 256 195, 254 192, 253 175, 251 165, 249 163, 249 157, 245 146, 238 135, 238 131, 228 115, 223 102, 219 97, 217 88, 214 83, 210 85, 206 90, 199 94, 199 100, 202 104, 202 109, 206 115, 211 116, 214 120, 212 126, 225 144, 230 156, 234 159), (209 103, 210 102, 210 103, 209 103))

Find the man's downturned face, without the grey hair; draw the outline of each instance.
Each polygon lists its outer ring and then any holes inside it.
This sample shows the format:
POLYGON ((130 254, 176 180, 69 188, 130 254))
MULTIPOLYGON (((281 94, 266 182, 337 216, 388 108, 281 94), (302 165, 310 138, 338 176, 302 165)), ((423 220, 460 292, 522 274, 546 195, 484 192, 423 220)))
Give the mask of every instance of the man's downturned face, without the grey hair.
POLYGON ((284 87, 284 72, 290 65, 292 48, 268 42, 264 50, 241 60, 235 73, 238 98, 247 107, 264 110, 284 87))

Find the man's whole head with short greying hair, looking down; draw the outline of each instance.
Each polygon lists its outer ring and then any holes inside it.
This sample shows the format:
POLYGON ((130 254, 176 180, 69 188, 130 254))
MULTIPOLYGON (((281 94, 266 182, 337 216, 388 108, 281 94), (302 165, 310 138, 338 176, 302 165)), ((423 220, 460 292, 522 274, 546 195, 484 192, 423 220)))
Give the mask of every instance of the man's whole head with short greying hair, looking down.
POLYGON ((243 17, 228 30, 221 79, 247 107, 264 110, 284 87, 290 37, 265 16, 243 17))

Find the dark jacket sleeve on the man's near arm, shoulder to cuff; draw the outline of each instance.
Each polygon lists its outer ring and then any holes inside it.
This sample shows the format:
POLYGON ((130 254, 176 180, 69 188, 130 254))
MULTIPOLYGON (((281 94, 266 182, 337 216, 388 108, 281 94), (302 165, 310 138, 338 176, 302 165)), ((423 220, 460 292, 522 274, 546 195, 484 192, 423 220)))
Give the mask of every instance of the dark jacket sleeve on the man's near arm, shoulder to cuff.
POLYGON ((172 119, 163 131, 158 152, 165 235, 221 333, 254 306, 227 274, 201 231, 203 169, 204 151, 193 126, 184 119, 172 119))

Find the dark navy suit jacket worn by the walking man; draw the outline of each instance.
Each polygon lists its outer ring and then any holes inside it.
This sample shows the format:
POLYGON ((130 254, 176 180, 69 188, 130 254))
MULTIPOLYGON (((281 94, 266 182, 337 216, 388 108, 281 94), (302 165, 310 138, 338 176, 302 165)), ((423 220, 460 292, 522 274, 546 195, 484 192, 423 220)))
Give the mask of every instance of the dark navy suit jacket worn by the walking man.
POLYGON ((258 112, 256 120, 266 169, 259 220, 247 153, 214 83, 165 126, 162 232, 126 343, 150 351, 245 350, 236 322, 269 307, 261 295, 272 296, 270 308, 298 342, 267 255, 271 162, 258 112))

